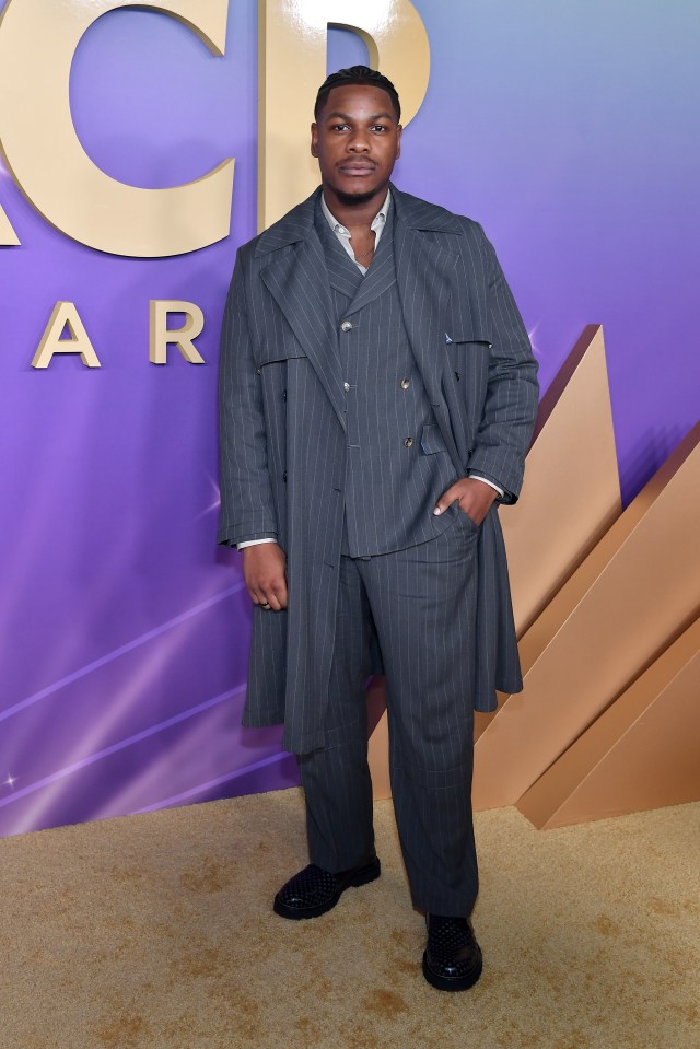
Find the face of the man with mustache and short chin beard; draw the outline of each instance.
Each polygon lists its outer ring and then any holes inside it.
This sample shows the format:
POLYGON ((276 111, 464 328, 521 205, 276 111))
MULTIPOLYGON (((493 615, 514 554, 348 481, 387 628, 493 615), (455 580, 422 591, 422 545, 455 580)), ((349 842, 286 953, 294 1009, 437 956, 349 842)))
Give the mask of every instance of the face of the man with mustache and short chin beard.
POLYGON ((346 205, 386 195, 400 145, 401 126, 382 88, 334 88, 311 126, 324 187, 346 205))

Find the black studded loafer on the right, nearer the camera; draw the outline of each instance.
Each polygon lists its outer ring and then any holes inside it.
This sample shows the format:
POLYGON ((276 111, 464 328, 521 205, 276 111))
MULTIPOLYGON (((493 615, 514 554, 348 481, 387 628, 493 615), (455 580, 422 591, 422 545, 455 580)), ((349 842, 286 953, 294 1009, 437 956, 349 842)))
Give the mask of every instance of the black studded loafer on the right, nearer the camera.
POLYGON ((423 976, 441 991, 466 991, 481 976, 481 948, 468 918, 428 914, 423 976))

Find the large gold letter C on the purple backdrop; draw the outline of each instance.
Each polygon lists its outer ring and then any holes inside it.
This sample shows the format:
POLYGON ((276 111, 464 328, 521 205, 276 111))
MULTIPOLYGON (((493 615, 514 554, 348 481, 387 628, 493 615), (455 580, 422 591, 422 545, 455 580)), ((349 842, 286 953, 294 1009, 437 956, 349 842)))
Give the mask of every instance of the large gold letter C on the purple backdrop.
POLYGON ((182 255, 229 235, 233 160, 184 186, 127 186, 93 164, 70 113, 81 37, 107 11, 133 7, 173 15, 223 55, 228 0, 8 0, 0 16, 1 149, 25 196, 73 240, 113 255, 182 255))

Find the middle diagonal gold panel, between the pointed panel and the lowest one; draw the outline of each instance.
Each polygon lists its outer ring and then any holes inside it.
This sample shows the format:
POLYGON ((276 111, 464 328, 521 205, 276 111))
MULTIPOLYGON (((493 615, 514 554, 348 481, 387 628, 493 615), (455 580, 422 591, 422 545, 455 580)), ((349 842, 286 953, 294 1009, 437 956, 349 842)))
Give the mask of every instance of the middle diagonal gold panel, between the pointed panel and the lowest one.
POLYGON ((698 608, 700 424, 523 638, 525 690, 475 748, 475 808, 515 804, 698 608))

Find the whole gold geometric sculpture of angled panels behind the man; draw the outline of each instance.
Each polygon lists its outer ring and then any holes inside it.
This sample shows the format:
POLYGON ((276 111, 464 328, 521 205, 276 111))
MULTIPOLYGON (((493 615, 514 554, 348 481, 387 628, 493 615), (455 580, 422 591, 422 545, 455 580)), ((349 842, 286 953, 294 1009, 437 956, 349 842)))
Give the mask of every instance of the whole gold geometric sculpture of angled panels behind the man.
MULTIPOLYGON (((620 513, 603 333, 590 326, 535 434, 524 494, 501 515, 525 688, 477 714, 474 806, 520 803, 546 827, 698 799, 678 713, 695 742, 700 424, 620 513), (675 727, 650 735, 662 714, 675 727), (633 771, 652 741, 658 782, 633 771)), ((370 753, 388 796, 386 714, 370 753)))

